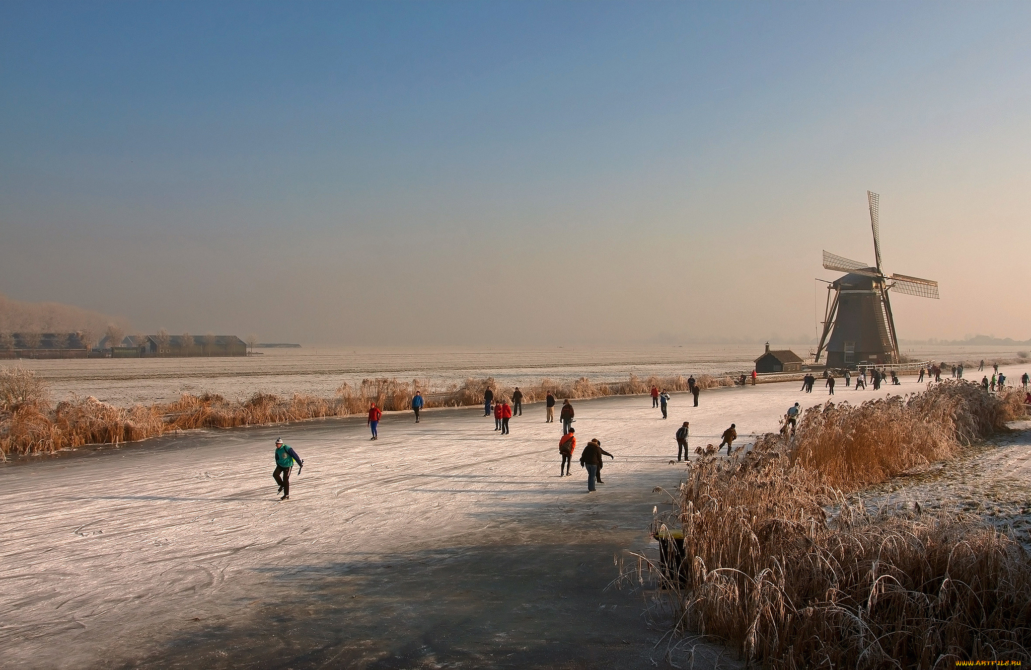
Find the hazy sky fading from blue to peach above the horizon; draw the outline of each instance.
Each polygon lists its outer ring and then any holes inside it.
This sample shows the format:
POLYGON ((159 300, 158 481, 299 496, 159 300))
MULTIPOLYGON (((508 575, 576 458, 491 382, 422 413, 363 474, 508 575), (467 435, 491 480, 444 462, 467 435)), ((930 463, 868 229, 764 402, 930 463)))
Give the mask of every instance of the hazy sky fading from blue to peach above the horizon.
POLYGON ((326 344, 1031 337, 1031 3, 0 4, 0 293, 326 344), (819 294, 818 294, 819 292, 819 294))

